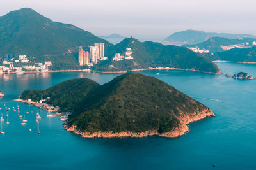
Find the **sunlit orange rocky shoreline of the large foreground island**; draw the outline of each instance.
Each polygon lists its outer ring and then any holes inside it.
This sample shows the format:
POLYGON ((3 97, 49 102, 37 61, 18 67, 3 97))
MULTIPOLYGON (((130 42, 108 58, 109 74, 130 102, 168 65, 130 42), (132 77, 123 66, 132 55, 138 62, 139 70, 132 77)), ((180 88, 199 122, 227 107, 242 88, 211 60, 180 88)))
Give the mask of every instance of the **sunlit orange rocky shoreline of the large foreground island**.
POLYGON ((198 112, 195 111, 195 113, 192 113, 191 115, 184 115, 179 118, 180 125, 179 127, 173 129, 170 132, 165 132, 163 134, 159 134, 156 129, 152 129, 150 131, 146 132, 83 132, 79 129, 77 129, 76 125, 72 125, 68 127, 68 125, 64 125, 65 129, 69 132, 74 132, 75 134, 79 134, 83 138, 145 138, 147 136, 161 136, 166 138, 176 138, 179 136, 183 136, 186 134, 186 132, 189 131, 188 124, 192 122, 196 122, 198 120, 202 120, 207 117, 215 117, 216 115, 210 110, 209 108, 206 108, 205 110, 198 112))

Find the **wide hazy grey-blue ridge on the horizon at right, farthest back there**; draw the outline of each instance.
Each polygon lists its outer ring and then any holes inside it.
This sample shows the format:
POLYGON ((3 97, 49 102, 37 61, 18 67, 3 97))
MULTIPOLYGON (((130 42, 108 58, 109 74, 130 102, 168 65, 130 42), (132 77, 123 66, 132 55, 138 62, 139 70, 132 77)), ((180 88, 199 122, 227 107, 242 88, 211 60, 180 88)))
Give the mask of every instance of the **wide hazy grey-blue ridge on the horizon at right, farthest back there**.
POLYGON ((256 38, 256 36, 250 34, 227 34, 227 33, 215 33, 215 32, 204 32, 195 30, 186 30, 175 32, 174 34, 168 36, 163 41, 168 43, 182 43, 182 44, 196 44, 207 41, 207 39, 212 37, 222 37, 228 39, 236 38, 256 38))

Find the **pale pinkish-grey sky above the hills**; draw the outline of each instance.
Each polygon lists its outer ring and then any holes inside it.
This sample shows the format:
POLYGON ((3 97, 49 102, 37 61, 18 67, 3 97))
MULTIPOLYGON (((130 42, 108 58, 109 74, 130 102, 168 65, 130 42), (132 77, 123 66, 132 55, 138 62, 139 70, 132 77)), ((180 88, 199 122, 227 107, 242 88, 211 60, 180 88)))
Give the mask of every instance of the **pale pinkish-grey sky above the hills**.
POLYGON ((1 0, 0 15, 24 7, 97 36, 161 41, 186 29, 256 35, 255 0, 1 0))

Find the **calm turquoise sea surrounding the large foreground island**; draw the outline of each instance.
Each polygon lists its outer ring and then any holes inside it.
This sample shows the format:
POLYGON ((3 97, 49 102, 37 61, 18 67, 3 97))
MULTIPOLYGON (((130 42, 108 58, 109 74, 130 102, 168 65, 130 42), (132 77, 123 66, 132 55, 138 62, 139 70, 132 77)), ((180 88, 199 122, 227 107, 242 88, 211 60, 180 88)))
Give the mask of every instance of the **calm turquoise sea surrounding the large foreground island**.
MULTIPOLYGON (((218 66, 224 74, 245 71, 256 77, 253 64, 218 66)), ((184 71, 140 73, 156 76, 194 97, 217 116, 190 124, 190 131, 179 138, 80 138, 65 131, 58 117, 49 118, 44 110, 12 99, 25 89, 46 89, 70 78, 83 76, 102 84, 119 74, 4 74, 0 75, 0 90, 6 94, 0 99, 0 112, 5 119, 5 134, 0 135, 0 169, 255 169, 256 80, 184 71), (4 103, 11 108, 9 125, 4 103), (17 104, 20 114, 28 119, 25 126, 12 110, 17 104), (27 114, 30 110, 35 112, 27 114), (40 135, 36 112, 42 117, 40 135)))

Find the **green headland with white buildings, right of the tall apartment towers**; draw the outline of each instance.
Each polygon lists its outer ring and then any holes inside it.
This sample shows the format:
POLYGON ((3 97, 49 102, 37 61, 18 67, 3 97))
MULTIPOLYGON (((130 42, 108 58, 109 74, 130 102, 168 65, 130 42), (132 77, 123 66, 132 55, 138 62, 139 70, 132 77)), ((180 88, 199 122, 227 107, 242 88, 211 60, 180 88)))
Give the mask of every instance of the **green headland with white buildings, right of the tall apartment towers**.
POLYGON ((126 71, 148 69, 148 67, 175 67, 207 73, 218 73, 220 69, 207 57, 188 48, 162 45, 152 41, 141 43, 135 38, 125 38, 122 42, 109 46, 105 50, 109 60, 95 65, 97 71, 126 71), (126 48, 131 48, 133 60, 113 61, 116 53, 125 55, 126 48), (110 67, 113 65, 114 67, 110 67))

